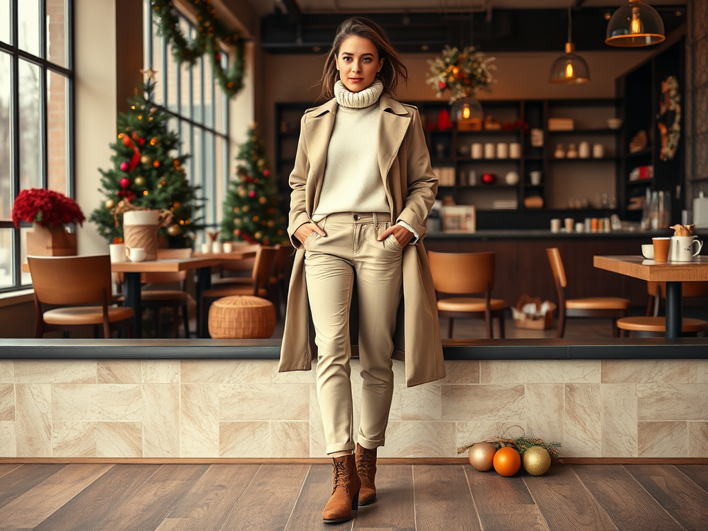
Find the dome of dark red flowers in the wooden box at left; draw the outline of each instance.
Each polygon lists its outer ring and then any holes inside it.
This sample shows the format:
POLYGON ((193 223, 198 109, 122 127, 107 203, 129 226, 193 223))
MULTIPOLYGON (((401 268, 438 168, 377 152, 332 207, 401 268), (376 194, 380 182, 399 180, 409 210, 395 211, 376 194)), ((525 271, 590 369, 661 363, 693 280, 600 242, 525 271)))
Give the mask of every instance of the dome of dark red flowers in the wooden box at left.
POLYGON ((38 223, 42 227, 64 227, 68 223, 84 224, 84 212, 72 198, 54 190, 30 188, 22 190, 12 207, 15 227, 21 222, 38 223))

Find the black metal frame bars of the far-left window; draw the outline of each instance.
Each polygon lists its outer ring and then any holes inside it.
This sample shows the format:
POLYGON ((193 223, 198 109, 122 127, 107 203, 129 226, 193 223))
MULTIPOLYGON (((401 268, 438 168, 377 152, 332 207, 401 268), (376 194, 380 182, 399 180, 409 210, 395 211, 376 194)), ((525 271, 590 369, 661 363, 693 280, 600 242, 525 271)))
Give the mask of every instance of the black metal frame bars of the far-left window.
MULTIPOLYGON (((10 40, 11 43, 0 41, 0 50, 10 56, 10 105, 11 105, 11 169, 10 169, 10 197, 11 205, 21 191, 20 180, 20 59, 40 68, 40 184, 42 188, 47 188, 48 184, 48 76, 49 72, 62 74, 67 78, 67 189, 62 191, 70 198, 76 198, 76 161, 74 131, 76 120, 76 101, 74 90, 74 0, 64 0, 67 9, 66 33, 66 67, 52 63, 47 59, 47 0, 39 1, 39 38, 40 55, 33 55, 20 48, 18 38, 18 4, 22 0, 10 0, 10 40)), ((0 287, 0 294, 27 290, 32 286, 31 282, 22 283, 22 240, 21 229, 31 227, 28 222, 22 222, 20 227, 15 227, 12 219, 0 219, 0 229, 12 229, 12 285, 0 287)))

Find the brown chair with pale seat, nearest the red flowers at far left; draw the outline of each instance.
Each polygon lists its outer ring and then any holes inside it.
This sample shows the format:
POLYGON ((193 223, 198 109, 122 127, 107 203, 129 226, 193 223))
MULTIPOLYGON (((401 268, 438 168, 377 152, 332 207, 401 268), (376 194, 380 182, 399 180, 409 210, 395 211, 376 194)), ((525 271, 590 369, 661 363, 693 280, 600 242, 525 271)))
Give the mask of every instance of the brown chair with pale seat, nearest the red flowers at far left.
POLYGON ((110 256, 28 256, 35 292, 35 338, 49 331, 91 329, 110 338, 126 330, 132 337, 132 308, 110 304, 110 256), (45 310, 43 305, 59 308, 45 310), (96 305, 98 304, 98 305, 96 305))

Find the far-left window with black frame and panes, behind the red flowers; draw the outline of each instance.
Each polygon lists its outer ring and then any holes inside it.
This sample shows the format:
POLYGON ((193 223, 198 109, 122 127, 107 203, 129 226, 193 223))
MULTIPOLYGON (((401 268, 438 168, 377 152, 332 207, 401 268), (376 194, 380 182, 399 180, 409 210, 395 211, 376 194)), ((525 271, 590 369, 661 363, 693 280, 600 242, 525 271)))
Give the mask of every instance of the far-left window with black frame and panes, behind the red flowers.
POLYGON ((0 292, 28 287, 25 188, 74 192, 72 0, 0 0, 0 292))

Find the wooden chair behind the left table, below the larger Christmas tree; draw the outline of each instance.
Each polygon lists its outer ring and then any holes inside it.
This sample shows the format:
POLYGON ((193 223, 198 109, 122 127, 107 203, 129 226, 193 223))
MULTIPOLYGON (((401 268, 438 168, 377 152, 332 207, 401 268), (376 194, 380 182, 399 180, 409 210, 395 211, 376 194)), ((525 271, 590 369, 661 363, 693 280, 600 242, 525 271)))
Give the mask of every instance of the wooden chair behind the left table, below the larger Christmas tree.
MULTIPOLYGON (((157 258, 162 260, 191 258, 192 249, 158 249, 157 258)), ((154 314, 155 333, 159 335, 159 316, 161 308, 172 309, 172 337, 179 338, 179 312, 182 311, 184 336, 189 337, 189 294, 185 291, 187 271, 177 273, 141 273, 140 282, 143 284, 171 284, 178 282, 178 290, 142 290, 140 297, 142 307, 152 309, 154 314)))

